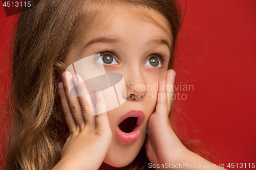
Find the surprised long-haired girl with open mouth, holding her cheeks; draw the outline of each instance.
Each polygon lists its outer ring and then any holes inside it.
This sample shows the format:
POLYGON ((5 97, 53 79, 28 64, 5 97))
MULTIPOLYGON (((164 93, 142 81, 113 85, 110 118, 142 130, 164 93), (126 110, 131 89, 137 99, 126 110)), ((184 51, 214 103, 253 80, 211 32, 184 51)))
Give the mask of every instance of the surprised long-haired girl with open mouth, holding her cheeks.
POLYGON ((21 13, 6 169, 218 168, 187 150, 169 123, 179 28, 175 1, 40 1, 21 13), (95 54, 124 78, 118 98, 127 99, 112 110, 103 89, 79 95, 88 84, 65 71, 95 54))

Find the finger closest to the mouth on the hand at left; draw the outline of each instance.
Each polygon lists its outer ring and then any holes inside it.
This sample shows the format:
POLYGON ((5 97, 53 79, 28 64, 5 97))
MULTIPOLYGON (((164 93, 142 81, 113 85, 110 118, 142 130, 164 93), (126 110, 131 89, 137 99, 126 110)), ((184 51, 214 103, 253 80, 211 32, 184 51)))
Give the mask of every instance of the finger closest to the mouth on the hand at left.
POLYGON ((106 127, 109 127, 109 118, 106 113, 106 104, 102 91, 99 88, 94 89, 94 99, 95 99, 95 124, 96 128, 99 130, 104 130, 106 127))

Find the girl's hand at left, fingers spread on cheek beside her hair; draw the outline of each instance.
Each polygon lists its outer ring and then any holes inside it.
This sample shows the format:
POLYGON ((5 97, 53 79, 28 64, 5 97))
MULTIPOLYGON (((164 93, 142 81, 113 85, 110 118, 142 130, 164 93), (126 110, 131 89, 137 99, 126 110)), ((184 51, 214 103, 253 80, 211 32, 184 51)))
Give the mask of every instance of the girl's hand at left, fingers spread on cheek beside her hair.
POLYGON ((62 74, 62 83, 58 84, 61 107, 69 128, 70 136, 65 142, 61 160, 55 169, 98 169, 108 152, 112 132, 106 112, 102 91, 94 92, 96 115, 92 115, 87 96, 73 96, 69 93, 68 83, 75 85, 76 93, 84 92, 86 88, 79 75, 72 78, 70 72, 62 74), (72 81, 73 80, 73 81, 72 81), (101 114, 97 114, 101 113, 101 114))

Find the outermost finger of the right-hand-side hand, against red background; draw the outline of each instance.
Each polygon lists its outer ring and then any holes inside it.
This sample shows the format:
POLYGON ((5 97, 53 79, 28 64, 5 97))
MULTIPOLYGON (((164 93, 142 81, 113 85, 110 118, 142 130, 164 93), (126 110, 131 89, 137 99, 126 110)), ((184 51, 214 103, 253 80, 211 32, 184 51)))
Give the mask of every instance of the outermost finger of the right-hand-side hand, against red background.
POLYGON ((176 76, 176 72, 173 69, 169 69, 167 71, 167 76, 166 76, 166 81, 167 81, 167 99, 168 99, 168 113, 170 111, 170 108, 173 104, 173 99, 175 99, 174 97, 174 83, 175 83, 175 76, 176 76))

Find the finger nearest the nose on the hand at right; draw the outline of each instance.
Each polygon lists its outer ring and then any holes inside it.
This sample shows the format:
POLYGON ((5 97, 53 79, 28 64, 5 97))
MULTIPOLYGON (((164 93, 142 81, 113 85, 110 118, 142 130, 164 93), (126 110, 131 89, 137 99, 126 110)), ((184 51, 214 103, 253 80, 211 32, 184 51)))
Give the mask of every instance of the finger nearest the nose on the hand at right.
POLYGON ((159 116, 166 115, 167 112, 166 83, 166 80, 161 80, 158 85, 156 114, 159 116))

